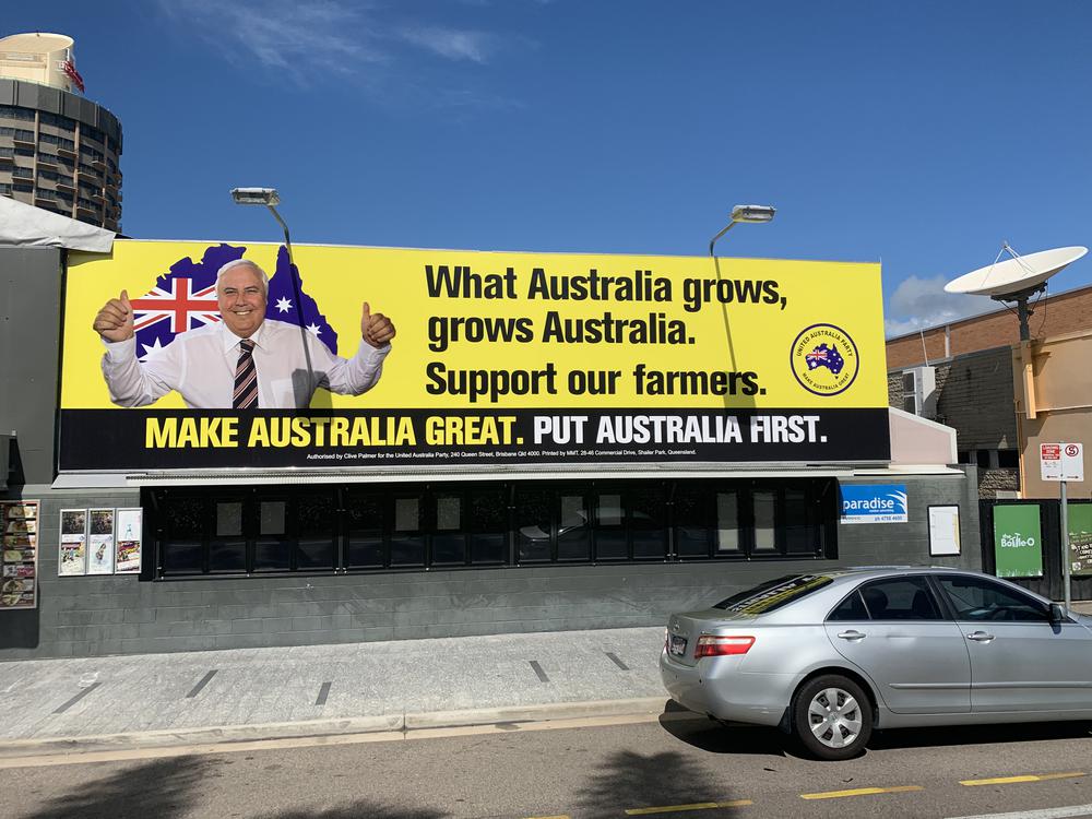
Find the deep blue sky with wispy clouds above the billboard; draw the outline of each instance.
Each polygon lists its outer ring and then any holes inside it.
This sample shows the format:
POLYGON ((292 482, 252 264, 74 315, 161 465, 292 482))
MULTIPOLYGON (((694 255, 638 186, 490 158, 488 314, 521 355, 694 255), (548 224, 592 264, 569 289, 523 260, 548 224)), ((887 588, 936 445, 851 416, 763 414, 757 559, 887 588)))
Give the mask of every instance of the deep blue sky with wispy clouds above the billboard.
MULTIPOLYGON (((122 120, 123 230, 881 260, 889 333, 952 276, 1092 239, 1092 2, 9 3, 122 120), (749 8, 748 8, 749 7, 749 8)), ((1092 282, 1092 257, 1052 292, 1092 282)))

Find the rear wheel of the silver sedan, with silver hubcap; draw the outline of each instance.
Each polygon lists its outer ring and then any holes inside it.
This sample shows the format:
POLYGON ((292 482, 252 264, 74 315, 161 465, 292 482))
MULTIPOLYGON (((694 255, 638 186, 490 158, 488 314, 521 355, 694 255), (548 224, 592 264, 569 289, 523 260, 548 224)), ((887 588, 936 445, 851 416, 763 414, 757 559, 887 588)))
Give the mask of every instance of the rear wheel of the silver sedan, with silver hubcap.
POLYGON ((811 757, 856 757, 873 734, 873 704, 848 677, 828 674, 800 686, 793 698, 793 734, 811 757))

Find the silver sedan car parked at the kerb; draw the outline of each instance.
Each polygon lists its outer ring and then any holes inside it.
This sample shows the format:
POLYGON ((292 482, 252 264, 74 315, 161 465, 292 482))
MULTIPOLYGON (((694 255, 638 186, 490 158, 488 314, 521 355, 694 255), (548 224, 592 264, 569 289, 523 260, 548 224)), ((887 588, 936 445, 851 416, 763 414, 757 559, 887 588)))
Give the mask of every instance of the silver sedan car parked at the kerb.
POLYGON ((691 711, 847 759, 874 728, 1092 719, 1092 617, 957 569, 793 574, 672 615, 660 673, 691 711))

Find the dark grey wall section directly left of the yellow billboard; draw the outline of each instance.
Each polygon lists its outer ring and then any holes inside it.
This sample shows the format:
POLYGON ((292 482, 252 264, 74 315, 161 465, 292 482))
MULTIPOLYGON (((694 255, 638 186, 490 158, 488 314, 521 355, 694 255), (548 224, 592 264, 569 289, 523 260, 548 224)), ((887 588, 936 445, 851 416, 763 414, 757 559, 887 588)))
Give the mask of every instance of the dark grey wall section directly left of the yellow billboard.
POLYGON ((54 479, 60 304, 60 250, 0 248, 0 432, 14 434, 20 483, 54 479))

